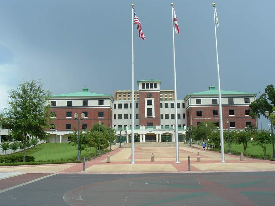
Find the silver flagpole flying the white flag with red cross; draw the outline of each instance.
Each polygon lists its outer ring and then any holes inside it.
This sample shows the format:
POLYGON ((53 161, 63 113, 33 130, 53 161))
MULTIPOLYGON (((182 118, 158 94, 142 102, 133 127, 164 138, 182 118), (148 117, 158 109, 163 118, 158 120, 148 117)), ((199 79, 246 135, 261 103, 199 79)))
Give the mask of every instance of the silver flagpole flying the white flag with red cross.
POLYGON ((179 138, 178 138, 178 112, 177 112, 177 82, 176 82, 176 58, 175 58, 175 35, 174 35, 174 7, 173 3, 171 4, 172 7, 172 32, 173 32, 173 60, 174 60, 174 87, 175 87, 175 93, 174 93, 174 108, 175 108, 175 145, 176 145, 176 162, 179 162, 179 138))

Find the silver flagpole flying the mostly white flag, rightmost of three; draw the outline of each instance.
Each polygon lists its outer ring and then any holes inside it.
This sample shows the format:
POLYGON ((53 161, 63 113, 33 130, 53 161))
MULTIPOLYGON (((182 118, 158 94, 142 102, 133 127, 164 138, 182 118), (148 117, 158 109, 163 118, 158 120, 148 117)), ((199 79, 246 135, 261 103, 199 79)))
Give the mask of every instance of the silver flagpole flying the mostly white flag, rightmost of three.
POLYGON ((217 70, 218 70, 218 86, 219 86, 219 111, 220 111, 220 146, 222 153, 222 161, 224 161, 224 142, 223 142, 223 111, 222 111, 222 98, 220 93, 220 69, 219 69, 219 57, 218 57, 218 43, 217 43, 217 29, 216 29, 216 16, 215 16, 215 3, 213 5, 214 12, 214 27, 215 27, 215 40, 216 40, 216 57, 217 57, 217 70))

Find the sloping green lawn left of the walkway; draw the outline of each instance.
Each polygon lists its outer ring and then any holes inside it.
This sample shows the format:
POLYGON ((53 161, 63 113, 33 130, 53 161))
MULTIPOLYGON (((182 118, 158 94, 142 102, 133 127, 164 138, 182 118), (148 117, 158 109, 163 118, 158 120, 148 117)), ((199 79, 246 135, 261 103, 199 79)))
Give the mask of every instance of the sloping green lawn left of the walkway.
MULTIPOLYGON (((92 152, 95 152, 94 148, 92 148, 92 152)), ((19 152, 19 154, 20 153, 21 152, 19 152)), ((36 162, 49 160, 73 160, 77 157, 77 147, 69 143, 44 143, 39 144, 34 148, 27 149, 26 155, 34 156, 36 162)), ((88 155, 88 152, 82 151, 81 157, 84 157, 85 155, 88 155)))

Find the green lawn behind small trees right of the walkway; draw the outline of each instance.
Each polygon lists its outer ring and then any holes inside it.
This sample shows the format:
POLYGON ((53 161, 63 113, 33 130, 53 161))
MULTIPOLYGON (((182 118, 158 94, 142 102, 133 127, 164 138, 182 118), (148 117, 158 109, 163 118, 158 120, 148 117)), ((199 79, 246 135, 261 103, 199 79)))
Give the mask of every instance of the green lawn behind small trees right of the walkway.
MULTIPOLYGON (((255 143, 252 143, 252 142, 247 143, 248 148, 246 149, 246 153, 255 154, 255 155, 264 155, 263 149, 260 145, 252 145, 252 144, 255 144, 255 143)), ((224 144, 224 149, 226 151, 228 151, 227 143, 224 144)), ((238 152, 244 152, 243 144, 233 144, 232 143, 231 150, 236 150, 238 152)), ((266 154, 267 155, 269 154, 272 157, 272 144, 266 145, 266 154)))

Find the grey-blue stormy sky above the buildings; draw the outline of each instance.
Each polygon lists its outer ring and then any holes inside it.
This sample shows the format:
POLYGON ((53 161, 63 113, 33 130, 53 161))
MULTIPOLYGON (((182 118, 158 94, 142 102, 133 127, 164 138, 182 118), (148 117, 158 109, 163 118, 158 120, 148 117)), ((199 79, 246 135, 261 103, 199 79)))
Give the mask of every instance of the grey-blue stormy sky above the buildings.
MULTIPOLYGON (((0 108, 19 79, 41 79, 52 94, 131 90, 131 4, 135 82, 174 89, 172 1, 9 0, 0 3, 0 108)), ((177 97, 218 85, 212 1, 173 1, 177 97)), ((221 89, 263 92, 274 84, 275 1, 215 1, 221 89)), ((136 83, 135 89, 137 89, 136 83)), ((263 127, 268 127, 263 119, 263 127), (265 125, 265 126, 264 126, 265 125)))

